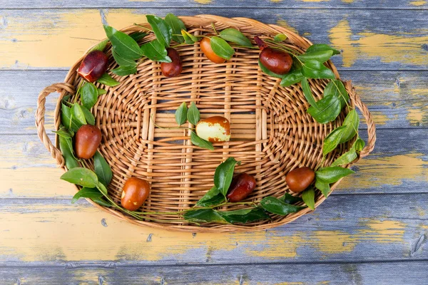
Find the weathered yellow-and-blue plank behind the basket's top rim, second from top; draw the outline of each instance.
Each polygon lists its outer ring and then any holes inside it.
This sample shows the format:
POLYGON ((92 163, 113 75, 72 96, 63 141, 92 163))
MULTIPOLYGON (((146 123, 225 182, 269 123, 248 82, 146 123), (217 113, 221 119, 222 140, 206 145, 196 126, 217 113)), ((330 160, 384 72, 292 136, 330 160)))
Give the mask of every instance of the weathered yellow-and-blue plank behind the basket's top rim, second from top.
POLYGON ((145 21, 144 14, 173 12, 245 16, 292 26, 316 43, 343 49, 342 57, 334 62, 348 69, 427 69, 427 10, 337 9, 332 13, 331 9, 292 9, 290 13, 242 5, 240 9, 2 10, 0 68, 65 68, 105 37, 101 21, 122 28, 145 21))

